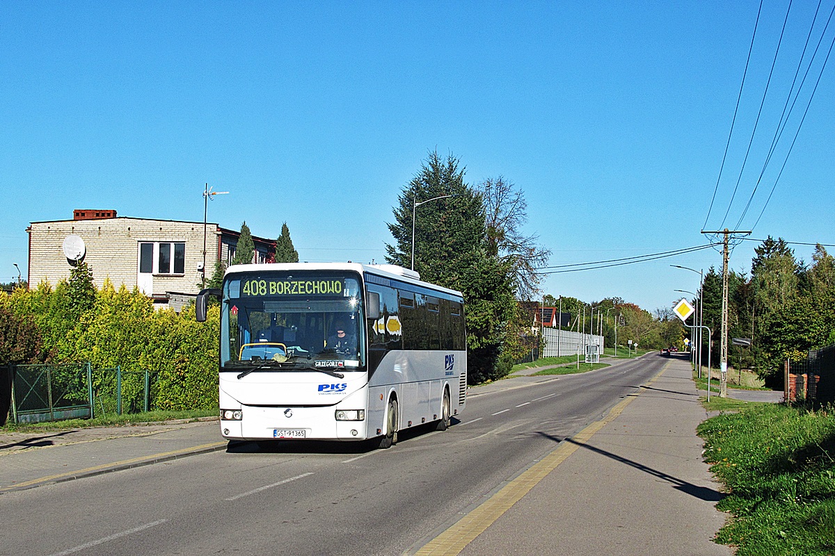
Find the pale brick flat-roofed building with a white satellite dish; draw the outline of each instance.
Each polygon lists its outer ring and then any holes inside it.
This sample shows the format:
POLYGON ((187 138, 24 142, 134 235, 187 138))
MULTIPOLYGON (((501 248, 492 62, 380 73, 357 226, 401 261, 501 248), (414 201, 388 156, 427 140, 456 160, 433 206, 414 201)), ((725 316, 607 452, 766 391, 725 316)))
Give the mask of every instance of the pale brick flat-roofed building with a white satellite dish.
MULTIPOLYGON (((73 211, 72 220, 33 222, 29 234, 29 286, 53 286, 69 278, 76 259, 89 264, 96 287, 109 278, 154 299, 160 307, 180 310, 211 277, 216 261, 230 263, 239 232, 218 224, 152 218, 117 217, 115 210, 73 211), (205 238, 205 240, 204 240, 205 238)), ((253 263, 272 260, 276 241, 253 236, 253 263)))

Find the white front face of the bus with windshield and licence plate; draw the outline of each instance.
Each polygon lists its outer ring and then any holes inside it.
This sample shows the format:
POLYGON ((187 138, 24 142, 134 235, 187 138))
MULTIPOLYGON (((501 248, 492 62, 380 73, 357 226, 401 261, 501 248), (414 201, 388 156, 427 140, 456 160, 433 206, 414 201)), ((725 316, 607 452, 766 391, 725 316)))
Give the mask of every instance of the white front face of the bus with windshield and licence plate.
POLYGON ((246 265, 226 273, 220 308, 225 438, 369 437, 360 275, 299 266, 246 265))

